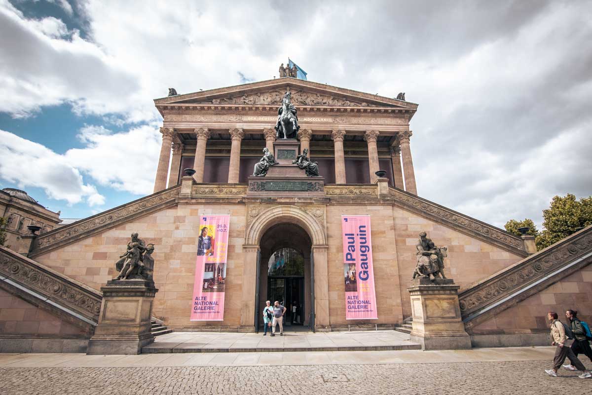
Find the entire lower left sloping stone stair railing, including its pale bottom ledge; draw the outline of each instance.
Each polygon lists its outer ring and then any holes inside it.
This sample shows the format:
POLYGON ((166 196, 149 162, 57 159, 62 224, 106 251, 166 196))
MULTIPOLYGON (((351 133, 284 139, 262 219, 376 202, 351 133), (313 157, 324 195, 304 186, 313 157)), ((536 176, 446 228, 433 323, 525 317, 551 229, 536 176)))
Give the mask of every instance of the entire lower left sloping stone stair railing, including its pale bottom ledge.
POLYGON ((98 322, 101 292, 4 247, 0 247, 0 282, 25 299, 49 304, 86 325, 98 322))

